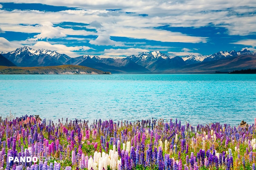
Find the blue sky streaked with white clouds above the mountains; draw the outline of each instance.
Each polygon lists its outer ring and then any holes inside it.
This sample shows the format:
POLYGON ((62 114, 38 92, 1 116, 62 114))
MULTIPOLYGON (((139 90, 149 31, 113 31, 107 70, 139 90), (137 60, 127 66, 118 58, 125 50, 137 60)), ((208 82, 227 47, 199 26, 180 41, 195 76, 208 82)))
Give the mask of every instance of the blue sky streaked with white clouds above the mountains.
POLYGON ((122 58, 256 51, 255 0, 0 0, 0 52, 122 58))

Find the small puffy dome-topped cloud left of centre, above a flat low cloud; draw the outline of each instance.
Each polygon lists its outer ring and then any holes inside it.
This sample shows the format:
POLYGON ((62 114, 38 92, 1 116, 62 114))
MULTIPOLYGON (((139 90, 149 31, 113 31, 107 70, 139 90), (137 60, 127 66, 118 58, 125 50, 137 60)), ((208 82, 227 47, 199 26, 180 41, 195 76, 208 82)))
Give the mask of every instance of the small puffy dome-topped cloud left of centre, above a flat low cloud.
POLYGON ((99 35, 95 40, 89 41, 89 43, 97 46, 124 46, 124 44, 122 44, 121 42, 110 40, 110 37, 107 35, 99 35))

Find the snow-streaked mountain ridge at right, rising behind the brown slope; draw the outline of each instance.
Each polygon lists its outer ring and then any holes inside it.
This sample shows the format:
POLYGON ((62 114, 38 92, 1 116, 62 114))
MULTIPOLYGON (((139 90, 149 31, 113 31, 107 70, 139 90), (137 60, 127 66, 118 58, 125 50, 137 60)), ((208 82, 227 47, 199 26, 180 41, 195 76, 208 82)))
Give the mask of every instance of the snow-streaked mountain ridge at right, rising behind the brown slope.
POLYGON ((183 56, 182 59, 186 62, 186 64, 194 64, 194 63, 199 63, 199 62, 206 62, 206 61, 215 61, 215 60, 220 60, 224 58, 229 58, 229 57, 235 57, 241 54, 248 54, 250 53, 249 50, 244 49, 243 51, 219 51, 214 54, 210 55, 188 55, 188 56, 183 56))

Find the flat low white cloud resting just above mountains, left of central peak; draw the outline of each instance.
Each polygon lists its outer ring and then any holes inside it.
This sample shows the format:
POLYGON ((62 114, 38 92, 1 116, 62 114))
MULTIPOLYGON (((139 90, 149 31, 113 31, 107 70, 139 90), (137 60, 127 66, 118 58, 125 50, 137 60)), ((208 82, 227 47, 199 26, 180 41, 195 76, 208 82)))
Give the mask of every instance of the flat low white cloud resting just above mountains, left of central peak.
POLYGON ((141 52, 148 52, 145 49, 139 48, 128 48, 128 49, 105 49, 103 56, 120 57, 120 56, 131 56, 141 52))

